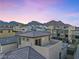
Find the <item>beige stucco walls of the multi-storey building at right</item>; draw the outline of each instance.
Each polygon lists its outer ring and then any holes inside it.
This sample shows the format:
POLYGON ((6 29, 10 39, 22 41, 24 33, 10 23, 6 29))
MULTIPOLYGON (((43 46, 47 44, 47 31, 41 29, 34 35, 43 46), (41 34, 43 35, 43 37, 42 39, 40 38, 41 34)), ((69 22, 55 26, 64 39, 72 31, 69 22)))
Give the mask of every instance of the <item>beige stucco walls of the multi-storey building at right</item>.
POLYGON ((57 37, 57 32, 60 32, 60 38, 64 38, 64 39, 67 39, 70 43, 72 43, 72 40, 74 38, 73 34, 74 34, 74 31, 75 30, 75 26, 68 26, 67 28, 64 28, 64 26, 53 26, 53 25, 50 25, 48 26, 48 31, 51 33, 51 37, 57 37), (68 32, 66 32, 68 31, 68 32), (68 35, 68 37, 66 37, 65 35, 68 35))

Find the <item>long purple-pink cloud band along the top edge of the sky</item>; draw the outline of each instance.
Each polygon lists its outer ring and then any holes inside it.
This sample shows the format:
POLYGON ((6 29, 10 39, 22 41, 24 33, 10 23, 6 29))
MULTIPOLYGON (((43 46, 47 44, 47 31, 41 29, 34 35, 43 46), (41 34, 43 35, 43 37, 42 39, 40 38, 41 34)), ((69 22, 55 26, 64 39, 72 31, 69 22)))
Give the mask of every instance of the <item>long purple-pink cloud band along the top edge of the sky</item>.
POLYGON ((0 0, 0 9, 10 9, 15 7, 37 8, 42 10, 49 5, 55 5, 61 0, 0 0), (23 6, 22 6, 23 5, 23 6))

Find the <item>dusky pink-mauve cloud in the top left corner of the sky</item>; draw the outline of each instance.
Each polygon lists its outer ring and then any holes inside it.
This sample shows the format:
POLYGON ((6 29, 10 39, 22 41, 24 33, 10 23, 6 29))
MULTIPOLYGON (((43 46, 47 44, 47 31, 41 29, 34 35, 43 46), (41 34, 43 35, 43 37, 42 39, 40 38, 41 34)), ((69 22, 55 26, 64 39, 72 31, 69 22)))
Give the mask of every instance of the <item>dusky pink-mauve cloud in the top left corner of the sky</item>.
POLYGON ((10 9, 10 8, 15 8, 18 7, 22 0, 0 0, 0 9, 5 10, 5 9, 10 9))

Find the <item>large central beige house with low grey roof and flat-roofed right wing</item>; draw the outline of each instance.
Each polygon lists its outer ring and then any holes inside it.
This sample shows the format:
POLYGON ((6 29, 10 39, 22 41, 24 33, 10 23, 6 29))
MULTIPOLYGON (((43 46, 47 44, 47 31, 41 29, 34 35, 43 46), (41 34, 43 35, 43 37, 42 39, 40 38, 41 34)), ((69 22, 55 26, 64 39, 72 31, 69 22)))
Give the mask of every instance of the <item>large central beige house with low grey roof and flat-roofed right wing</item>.
POLYGON ((19 48, 31 46, 46 59, 61 59, 62 41, 50 39, 50 33, 45 31, 29 31, 17 33, 19 48))

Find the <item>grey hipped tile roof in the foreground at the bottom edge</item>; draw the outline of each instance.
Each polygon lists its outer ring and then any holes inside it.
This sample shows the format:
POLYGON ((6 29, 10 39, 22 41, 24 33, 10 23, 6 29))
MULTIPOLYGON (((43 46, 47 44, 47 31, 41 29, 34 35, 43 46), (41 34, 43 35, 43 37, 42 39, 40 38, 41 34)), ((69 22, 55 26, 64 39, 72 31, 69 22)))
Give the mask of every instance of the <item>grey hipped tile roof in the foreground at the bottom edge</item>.
POLYGON ((46 59, 33 48, 27 46, 7 52, 2 59, 46 59))

